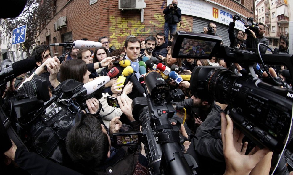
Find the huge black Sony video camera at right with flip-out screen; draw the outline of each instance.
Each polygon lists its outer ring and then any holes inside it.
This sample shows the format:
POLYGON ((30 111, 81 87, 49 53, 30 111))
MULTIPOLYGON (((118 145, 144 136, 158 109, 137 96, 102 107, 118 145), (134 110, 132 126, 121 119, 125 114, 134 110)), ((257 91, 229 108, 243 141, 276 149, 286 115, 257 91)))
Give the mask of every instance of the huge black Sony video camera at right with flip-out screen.
MULTIPOLYGON (((242 70, 242 76, 238 76, 223 67, 197 66, 192 71, 190 78, 191 93, 200 99, 212 99, 222 104, 228 104, 229 115, 234 125, 258 147, 266 147, 278 154, 292 152, 290 140, 292 138, 293 91, 280 88, 279 86, 282 84, 275 81, 274 78, 257 77, 254 65, 256 63, 263 67, 265 67, 264 63, 286 65, 292 78, 293 56, 235 50, 227 46, 220 46, 220 38, 214 36, 177 32, 172 46, 174 48, 172 57, 192 58, 190 55, 179 52, 181 42, 193 40, 198 43, 206 43, 206 37, 214 45, 211 54, 224 58, 225 62, 238 63, 245 70, 242 70), (270 84, 266 82, 270 82, 270 84), (284 151, 285 147, 286 151, 284 151)), ((265 44, 260 43, 259 45, 265 44)), ((211 54, 207 52, 201 58, 210 59, 211 54)), ((266 72, 270 75, 268 70, 266 72)))

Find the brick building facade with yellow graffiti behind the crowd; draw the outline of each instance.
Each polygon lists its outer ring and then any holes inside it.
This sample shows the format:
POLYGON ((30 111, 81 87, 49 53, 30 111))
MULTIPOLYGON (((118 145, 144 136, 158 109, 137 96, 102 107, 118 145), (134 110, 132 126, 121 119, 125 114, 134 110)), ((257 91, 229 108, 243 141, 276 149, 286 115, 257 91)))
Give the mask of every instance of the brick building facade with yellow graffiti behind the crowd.
MULTIPOLYGON (((130 34, 139 39, 144 39, 147 36, 154 36, 158 32, 163 32, 165 20, 162 11, 170 2, 169 0, 168 3, 166 0, 145 0, 144 22, 141 23, 139 10, 124 10, 122 12, 118 9, 118 0, 98 0, 91 5, 88 0, 56 0, 54 1, 54 5, 57 6, 56 14, 44 26, 44 30, 39 35, 40 41, 37 43, 61 43, 70 37, 72 40, 88 38, 90 41, 98 41, 100 36, 108 36, 110 37, 110 43, 119 48, 123 46, 126 36, 130 34), (67 27, 54 31, 54 23, 63 16, 66 16, 67 27)), ((184 2, 189 2, 189 0, 184 0, 184 2)), ((178 0, 178 7, 181 8, 184 3, 180 3, 182 1, 178 0)), ((205 4, 202 7, 208 4, 213 7, 222 6, 223 9, 233 9, 235 13, 239 12, 246 17, 254 17, 254 4, 251 0, 207 0, 203 3, 205 4)), ((195 18, 197 16, 184 15, 183 13, 181 26, 179 27, 178 24, 177 30, 193 31, 196 25, 194 23, 195 18)), ((201 20, 202 18, 198 19, 201 20)), ((203 18, 203 20, 210 19, 203 18)), ((203 28, 203 26, 200 26, 200 28, 203 28)), ((56 56, 62 54, 62 47, 51 49, 56 56)), ((55 55, 52 54, 52 56, 55 55)))

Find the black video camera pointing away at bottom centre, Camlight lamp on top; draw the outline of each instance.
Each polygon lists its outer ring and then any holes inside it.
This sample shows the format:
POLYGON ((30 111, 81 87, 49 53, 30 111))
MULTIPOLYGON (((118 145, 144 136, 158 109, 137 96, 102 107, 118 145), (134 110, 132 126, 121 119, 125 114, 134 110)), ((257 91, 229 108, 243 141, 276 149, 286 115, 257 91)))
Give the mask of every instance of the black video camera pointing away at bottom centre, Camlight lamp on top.
MULTIPOLYGON (((171 100, 181 102, 185 95, 180 89, 170 91, 157 71, 144 77, 146 97, 137 97, 131 104, 132 114, 142 126, 143 143, 152 174, 196 174, 197 163, 184 153, 180 143, 186 139, 173 128, 169 119, 175 109, 171 100), (147 88, 147 89, 146 89, 147 88)), ((177 124, 179 121, 177 121, 177 124)))

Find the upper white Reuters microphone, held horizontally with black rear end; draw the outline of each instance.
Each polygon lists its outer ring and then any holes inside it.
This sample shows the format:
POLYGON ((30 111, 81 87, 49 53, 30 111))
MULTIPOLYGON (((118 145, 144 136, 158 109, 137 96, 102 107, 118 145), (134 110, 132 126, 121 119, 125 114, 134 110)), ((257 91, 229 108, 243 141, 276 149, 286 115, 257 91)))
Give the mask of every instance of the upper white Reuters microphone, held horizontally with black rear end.
POLYGON ((100 48, 102 47, 102 43, 95 41, 84 41, 84 40, 76 40, 73 43, 54 43, 50 44, 50 46, 73 46, 76 49, 89 49, 89 48, 100 48))

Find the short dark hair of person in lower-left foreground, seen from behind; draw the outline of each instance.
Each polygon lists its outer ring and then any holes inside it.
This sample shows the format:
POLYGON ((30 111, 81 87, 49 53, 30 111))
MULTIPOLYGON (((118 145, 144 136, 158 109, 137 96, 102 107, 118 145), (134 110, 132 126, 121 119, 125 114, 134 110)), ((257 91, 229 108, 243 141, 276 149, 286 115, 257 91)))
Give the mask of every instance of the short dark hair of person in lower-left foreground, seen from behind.
POLYGON ((66 149, 73 162, 95 168, 107 159, 109 141, 101 123, 92 115, 85 115, 67 134, 66 149))

